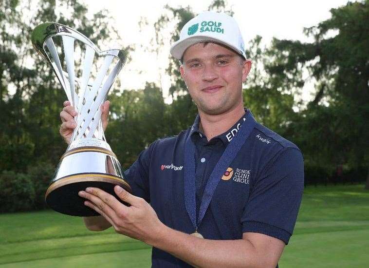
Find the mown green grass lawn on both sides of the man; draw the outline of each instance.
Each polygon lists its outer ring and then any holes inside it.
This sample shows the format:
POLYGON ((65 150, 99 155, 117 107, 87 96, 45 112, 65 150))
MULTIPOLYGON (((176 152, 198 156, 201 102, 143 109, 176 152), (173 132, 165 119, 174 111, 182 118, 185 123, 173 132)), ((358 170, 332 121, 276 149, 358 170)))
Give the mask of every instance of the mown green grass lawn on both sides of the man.
MULTIPOLYGON (((363 185, 309 186, 281 268, 369 267, 369 191, 363 185)), ((0 267, 150 267, 151 248, 113 230, 37 211, 0 215, 0 267)))

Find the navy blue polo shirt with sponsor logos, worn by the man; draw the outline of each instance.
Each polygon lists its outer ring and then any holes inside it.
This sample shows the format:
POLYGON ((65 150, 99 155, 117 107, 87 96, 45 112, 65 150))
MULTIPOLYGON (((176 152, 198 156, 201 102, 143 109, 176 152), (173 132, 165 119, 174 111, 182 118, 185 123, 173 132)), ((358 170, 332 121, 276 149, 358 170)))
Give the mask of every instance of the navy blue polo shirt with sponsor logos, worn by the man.
MULTIPOLYGON (((245 110, 246 113, 251 113, 245 110)), ((185 233, 194 227, 184 205, 184 144, 195 145, 197 216, 206 182, 245 115, 227 132, 207 141, 200 117, 178 136, 156 140, 125 172, 133 194, 144 198, 168 227, 185 233)), ((247 121, 246 121, 247 122, 247 121)), ((304 186, 303 157, 295 144, 259 123, 215 189, 198 231, 207 239, 241 239, 258 232, 288 244, 304 186)), ((153 248, 152 267, 190 267, 153 248)))

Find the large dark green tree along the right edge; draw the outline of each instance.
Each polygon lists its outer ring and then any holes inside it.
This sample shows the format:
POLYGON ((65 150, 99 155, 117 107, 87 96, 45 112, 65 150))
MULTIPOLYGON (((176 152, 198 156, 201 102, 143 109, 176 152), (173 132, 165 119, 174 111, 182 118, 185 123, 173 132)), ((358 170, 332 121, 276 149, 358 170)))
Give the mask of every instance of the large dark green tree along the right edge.
MULTIPOLYGON (((314 77, 315 97, 293 124, 311 165, 368 167, 369 1, 331 9, 332 18, 305 29, 314 42, 274 39, 268 71, 281 86, 314 77)), ((369 176, 368 182, 369 187, 369 176)))

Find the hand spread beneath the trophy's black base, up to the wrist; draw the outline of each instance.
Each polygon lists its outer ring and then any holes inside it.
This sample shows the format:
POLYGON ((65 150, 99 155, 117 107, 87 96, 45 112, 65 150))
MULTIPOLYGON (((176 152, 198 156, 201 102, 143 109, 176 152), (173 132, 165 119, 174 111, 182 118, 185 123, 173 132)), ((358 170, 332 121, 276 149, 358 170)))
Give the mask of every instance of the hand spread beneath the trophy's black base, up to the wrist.
POLYGON ((130 207, 98 188, 89 187, 78 194, 86 198, 85 205, 100 213, 117 233, 151 244, 155 233, 165 228, 156 212, 143 198, 134 196, 119 186, 115 186, 114 191, 120 199, 129 203, 130 207))

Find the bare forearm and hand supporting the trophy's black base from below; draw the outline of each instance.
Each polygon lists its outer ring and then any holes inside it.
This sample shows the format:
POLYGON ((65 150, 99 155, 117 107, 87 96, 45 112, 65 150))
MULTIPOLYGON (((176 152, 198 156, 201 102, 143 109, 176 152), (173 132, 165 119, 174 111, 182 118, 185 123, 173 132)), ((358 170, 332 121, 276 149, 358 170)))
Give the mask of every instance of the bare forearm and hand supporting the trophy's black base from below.
POLYGON ((243 233, 242 239, 210 240, 173 230, 164 225, 152 207, 142 198, 119 186, 117 196, 131 206, 120 203, 98 188, 78 194, 85 205, 100 213, 117 233, 139 239, 162 249, 194 267, 275 268, 284 242, 261 233, 243 233))

